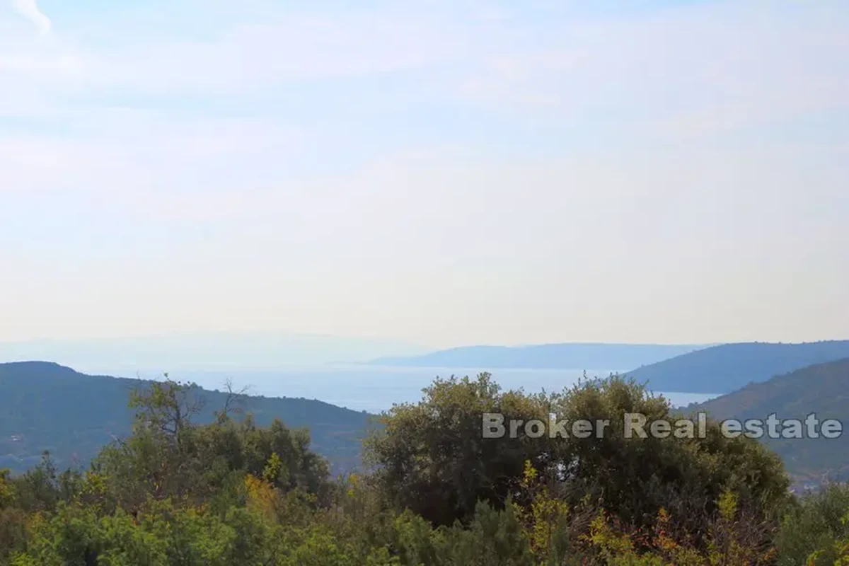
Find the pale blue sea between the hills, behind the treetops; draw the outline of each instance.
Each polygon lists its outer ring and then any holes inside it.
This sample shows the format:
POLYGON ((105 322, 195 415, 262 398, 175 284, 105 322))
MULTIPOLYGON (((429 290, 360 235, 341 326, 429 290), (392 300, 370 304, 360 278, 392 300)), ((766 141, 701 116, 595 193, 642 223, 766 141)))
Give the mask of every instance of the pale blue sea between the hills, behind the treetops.
MULTIPOLYGON (((80 366, 83 373, 99 373, 120 377, 155 379, 161 372, 150 368, 80 366)), ((205 389, 224 389, 230 379, 234 389, 248 387, 250 395, 267 397, 302 397, 317 399, 356 411, 381 412, 395 403, 415 402, 422 398, 422 389, 437 376, 475 376, 477 368, 448 367, 383 367, 363 365, 284 366, 240 368, 210 365, 171 367, 169 377, 194 381, 205 389)), ((582 369, 498 369, 491 371, 502 389, 524 389, 528 393, 541 390, 561 391, 575 384, 584 375, 582 369)), ((607 377, 617 370, 587 370, 587 376, 607 377)), ((674 406, 706 401, 717 395, 655 392, 664 395, 674 406)))

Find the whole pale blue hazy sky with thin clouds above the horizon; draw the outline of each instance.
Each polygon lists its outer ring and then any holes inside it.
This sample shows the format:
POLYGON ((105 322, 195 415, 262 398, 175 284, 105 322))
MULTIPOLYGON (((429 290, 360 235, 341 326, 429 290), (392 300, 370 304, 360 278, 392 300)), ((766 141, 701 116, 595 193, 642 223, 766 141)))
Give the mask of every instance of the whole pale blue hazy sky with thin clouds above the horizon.
POLYGON ((847 29, 846 0, 0 0, 0 339, 849 338, 847 29))

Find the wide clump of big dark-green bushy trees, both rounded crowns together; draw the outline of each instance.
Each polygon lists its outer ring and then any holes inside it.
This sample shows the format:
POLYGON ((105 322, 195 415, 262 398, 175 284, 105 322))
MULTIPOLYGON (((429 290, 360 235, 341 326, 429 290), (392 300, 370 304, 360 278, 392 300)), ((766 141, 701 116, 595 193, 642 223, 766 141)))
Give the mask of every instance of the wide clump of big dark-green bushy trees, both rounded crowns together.
POLYGON ((520 484, 526 461, 547 486, 548 496, 572 509, 604 508, 634 529, 650 528, 664 509, 681 537, 705 544, 707 525, 726 490, 739 498, 759 530, 768 530, 788 500, 788 480, 779 458, 756 440, 728 439, 708 421, 706 437, 626 438, 626 413, 650 423, 681 415, 662 397, 618 376, 583 380, 552 395, 502 393, 488 374, 438 380, 417 405, 395 406, 385 429, 369 444, 381 489, 399 508, 433 524, 468 522, 475 504, 502 509, 509 496, 522 506, 520 484), (482 415, 500 412, 527 423, 541 419, 606 421, 604 434, 539 438, 519 434, 485 439, 482 415))

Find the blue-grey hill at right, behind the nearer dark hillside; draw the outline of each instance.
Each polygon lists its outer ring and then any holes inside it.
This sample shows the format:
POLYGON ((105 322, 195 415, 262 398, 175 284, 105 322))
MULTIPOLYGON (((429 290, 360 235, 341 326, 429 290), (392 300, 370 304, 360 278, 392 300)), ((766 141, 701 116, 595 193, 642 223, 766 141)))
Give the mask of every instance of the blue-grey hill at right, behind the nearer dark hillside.
POLYGON ((647 381, 654 391, 729 393, 749 383, 844 357, 849 357, 849 340, 725 344, 638 367, 627 376, 647 381))

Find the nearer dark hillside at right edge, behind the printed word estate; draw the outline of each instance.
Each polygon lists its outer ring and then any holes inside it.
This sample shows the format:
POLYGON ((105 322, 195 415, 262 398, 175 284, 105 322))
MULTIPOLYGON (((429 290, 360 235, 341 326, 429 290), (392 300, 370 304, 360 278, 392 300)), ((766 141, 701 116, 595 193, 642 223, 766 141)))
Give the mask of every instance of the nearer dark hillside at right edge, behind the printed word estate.
POLYGON ((698 411, 720 420, 766 419, 773 412, 779 419, 804 421, 811 413, 820 421, 835 418, 844 425, 840 438, 763 441, 782 457, 796 479, 812 483, 824 477, 849 479, 849 357, 802 367, 685 410, 698 411))

